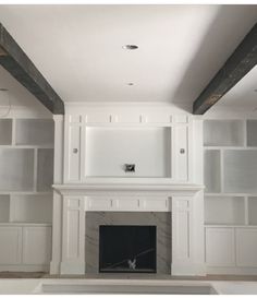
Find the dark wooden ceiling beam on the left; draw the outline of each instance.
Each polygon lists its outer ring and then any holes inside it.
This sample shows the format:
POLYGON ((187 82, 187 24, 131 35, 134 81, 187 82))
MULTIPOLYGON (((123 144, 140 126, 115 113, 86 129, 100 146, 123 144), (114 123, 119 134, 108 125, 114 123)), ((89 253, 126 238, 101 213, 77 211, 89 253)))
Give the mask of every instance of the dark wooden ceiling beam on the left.
POLYGON ((0 64, 52 114, 64 114, 62 99, 1 23, 0 64))

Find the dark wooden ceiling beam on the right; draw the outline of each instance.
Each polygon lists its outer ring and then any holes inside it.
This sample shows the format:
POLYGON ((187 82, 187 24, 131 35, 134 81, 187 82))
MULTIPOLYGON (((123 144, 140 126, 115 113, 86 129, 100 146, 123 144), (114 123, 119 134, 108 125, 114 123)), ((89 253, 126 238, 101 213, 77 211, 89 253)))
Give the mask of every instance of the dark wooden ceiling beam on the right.
POLYGON ((194 102, 193 114, 205 114, 246 73, 248 73, 256 63, 257 23, 194 102))

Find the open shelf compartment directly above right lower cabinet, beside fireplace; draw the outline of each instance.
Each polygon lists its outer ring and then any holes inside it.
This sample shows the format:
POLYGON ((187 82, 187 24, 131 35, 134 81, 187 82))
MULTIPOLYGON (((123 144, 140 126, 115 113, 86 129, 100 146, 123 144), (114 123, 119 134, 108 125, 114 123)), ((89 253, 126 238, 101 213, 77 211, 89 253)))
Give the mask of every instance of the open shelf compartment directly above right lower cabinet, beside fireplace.
POLYGON ((245 202, 240 196, 206 196, 205 222, 215 225, 244 225, 245 202))

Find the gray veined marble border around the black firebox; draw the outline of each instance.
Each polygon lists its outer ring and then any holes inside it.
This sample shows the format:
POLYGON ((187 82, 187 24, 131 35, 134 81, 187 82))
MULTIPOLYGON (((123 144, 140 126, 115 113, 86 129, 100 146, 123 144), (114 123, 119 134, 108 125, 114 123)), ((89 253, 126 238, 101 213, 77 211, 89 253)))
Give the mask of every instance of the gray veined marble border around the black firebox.
POLYGON ((100 225, 156 225, 157 273, 171 272, 171 213, 166 212, 87 212, 86 273, 98 273, 100 225))

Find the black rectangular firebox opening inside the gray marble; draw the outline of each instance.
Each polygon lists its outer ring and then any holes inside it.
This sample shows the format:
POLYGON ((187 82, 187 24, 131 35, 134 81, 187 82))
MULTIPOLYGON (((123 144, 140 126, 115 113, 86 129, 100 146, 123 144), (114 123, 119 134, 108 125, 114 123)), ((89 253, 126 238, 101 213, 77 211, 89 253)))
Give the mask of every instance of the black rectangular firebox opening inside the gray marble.
POLYGON ((99 272, 156 273, 156 226, 99 226, 99 272))

